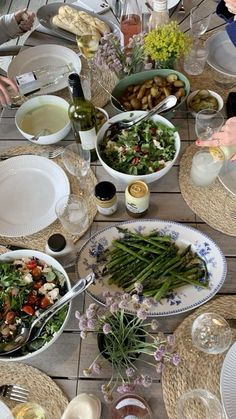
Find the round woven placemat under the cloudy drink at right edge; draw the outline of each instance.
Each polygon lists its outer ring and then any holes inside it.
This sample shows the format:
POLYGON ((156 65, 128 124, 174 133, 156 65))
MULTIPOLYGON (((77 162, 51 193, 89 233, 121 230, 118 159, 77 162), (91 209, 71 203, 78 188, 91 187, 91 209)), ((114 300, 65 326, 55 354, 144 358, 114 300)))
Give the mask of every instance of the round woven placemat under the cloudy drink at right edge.
POLYGON ((218 179, 207 188, 194 186, 190 180, 192 157, 197 150, 195 145, 189 146, 180 161, 179 185, 182 196, 191 210, 211 227, 236 236, 236 218, 230 216, 233 206, 236 213, 236 197, 230 195, 218 179), (226 205, 226 199, 230 205, 226 205))

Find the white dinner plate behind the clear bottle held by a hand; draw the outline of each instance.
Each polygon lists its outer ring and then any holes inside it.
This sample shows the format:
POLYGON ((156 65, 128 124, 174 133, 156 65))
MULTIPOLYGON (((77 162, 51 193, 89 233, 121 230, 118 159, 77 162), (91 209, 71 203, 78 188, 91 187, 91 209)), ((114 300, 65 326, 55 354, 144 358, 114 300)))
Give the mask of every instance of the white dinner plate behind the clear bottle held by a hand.
MULTIPOLYGON (((14 78, 18 74, 34 71, 44 66, 62 66, 72 64, 74 70, 80 73, 79 56, 69 48, 61 45, 38 45, 21 51, 10 63, 8 76, 14 78)), ((64 89, 68 84, 68 75, 62 77, 57 84, 40 89, 39 94, 49 94, 64 89)))

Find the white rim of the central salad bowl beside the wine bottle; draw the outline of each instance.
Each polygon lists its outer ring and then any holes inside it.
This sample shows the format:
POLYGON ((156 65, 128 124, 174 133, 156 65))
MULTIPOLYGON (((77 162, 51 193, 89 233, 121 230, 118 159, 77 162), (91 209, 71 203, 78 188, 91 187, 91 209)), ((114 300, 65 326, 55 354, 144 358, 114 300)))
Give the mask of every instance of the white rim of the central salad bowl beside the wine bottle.
MULTIPOLYGON (((141 110, 125 111, 125 112, 118 113, 118 114, 114 115, 113 117, 111 117, 107 122, 105 122, 105 124, 101 127, 101 129, 98 132, 97 140, 96 140, 96 144, 95 144, 95 148, 96 148, 96 152, 97 152, 97 155, 98 155, 98 158, 99 158, 100 162, 102 163, 102 165, 104 166, 104 168, 108 168, 108 171, 112 171, 114 173, 114 176, 115 176, 115 174, 117 174, 116 177, 119 176, 119 178, 123 178, 122 179, 123 181, 130 181, 131 178, 133 178, 133 179, 142 180, 144 182, 145 181, 148 182, 150 179, 152 179, 153 177, 155 177, 155 174, 159 174, 163 170, 166 170, 166 169, 169 169, 170 170, 171 167, 174 165, 175 161, 177 160, 178 155, 180 153, 180 149, 181 149, 181 138, 180 138, 180 135, 179 135, 178 131, 176 131, 174 133, 174 136, 175 136, 175 146, 176 146, 175 156, 174 156, 173 160, 171 160, 171 162, 170 162, 170 164, 168 166, 163 167, 163 169, 159 170, 158 172, 148 173, 146 175, 130 175, 128 173, 118 172, 118 170, 113 169, 112 167, 108 166, 104 162, 104 160, 101 158, 101 155, 100 155, 100 152, 99 152, 99 144, 102 141, 101 135, 102 135, 102 131, 105 129, 105 126, 107 126, 109 124, 109 122, 113 122, 113 121, 115 122, 116 120, 123 119, 123 118, 121 118, 121 116, 124 115, 124 114, 134 114, 133 115, 133 119, 135 119, 135 117, 137 117, 137 116, 139 116, 141 114, 147 114, 147 113, 148 113, 147 111, 141 111, 141 110), (135 114, 136 114, 136 116, 135 116, 135 114)), ((172 122, 170 122, 167 118, 165 118, 164 116, 162 116, 160 114, 155 114, 155 115, 153 115, 151 117, 151 119, 154 119, 154 118, 158 118, 160 120, 160 122, 162 122, 163 124, 166 123, 166 125, 169 126, 170 128, 175 128, 175 126, 174 126, 174 124, 172 124, 172 122)), ((132 119, 130 119, 130 120, 132 120, 132 119)), ((165 173, 164 173, 164 175, 165 175, 165 173)), ((158 179, 154 179, 153 181, 155 181, 155 180, 158 180, 158 179)))

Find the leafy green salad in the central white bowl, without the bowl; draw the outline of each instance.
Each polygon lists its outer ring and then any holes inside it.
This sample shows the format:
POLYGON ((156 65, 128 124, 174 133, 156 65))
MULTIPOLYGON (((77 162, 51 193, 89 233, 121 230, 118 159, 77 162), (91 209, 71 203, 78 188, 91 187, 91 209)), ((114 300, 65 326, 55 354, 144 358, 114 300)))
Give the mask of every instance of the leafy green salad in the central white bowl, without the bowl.
POLYGON ((173 160, 175 128, 149 119, 128 130, 107 136, 100 144, 103 161, 112 169, 129 175, 158 172, 173 160))

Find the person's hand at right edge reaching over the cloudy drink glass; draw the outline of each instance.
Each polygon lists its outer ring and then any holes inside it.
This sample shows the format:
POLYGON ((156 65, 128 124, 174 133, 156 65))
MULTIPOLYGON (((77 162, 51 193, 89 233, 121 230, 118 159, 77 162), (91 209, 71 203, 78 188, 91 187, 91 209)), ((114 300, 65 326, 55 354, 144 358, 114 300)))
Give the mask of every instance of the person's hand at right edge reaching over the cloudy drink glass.
MULTIPOLYGON (((236 145, 236 117, 229 118, 221 128, 215 132, 210 140, 197 140, 195 144, 199 147, 220 147, 236 145)), ((230 160, 236 160, 236 154, 230 160)))

